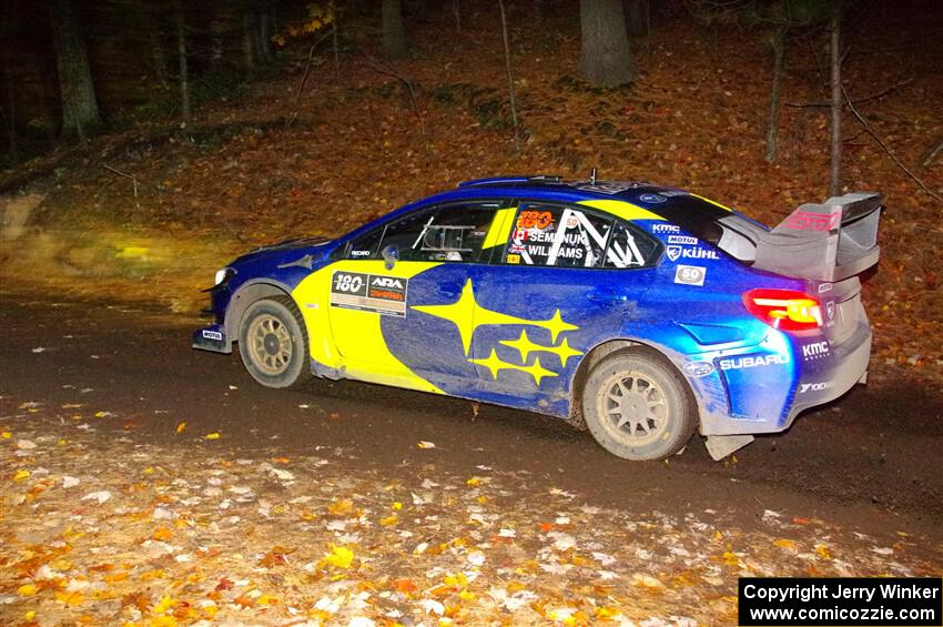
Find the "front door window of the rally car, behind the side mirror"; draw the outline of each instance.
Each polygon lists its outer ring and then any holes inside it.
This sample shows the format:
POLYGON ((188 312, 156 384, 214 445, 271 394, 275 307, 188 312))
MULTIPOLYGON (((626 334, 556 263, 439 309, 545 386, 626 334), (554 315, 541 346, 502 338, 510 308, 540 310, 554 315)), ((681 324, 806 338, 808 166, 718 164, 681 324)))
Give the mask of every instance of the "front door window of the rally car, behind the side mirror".
POLYGON ((498 204, 418 211, 386 226, 379 250, 396 246, 400 261, 475 262, 498 204))

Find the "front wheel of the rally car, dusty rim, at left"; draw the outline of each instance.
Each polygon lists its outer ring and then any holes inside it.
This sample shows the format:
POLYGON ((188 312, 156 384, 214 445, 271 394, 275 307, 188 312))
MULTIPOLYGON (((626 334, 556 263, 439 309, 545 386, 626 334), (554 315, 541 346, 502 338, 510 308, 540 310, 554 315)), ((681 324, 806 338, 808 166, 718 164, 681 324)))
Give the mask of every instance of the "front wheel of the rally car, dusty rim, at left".
POLYGON ((293 387, 312 376, 307 333, 288 296, 249 305, 240 322, 239 353, 249 374, 267 387, 293 387))

